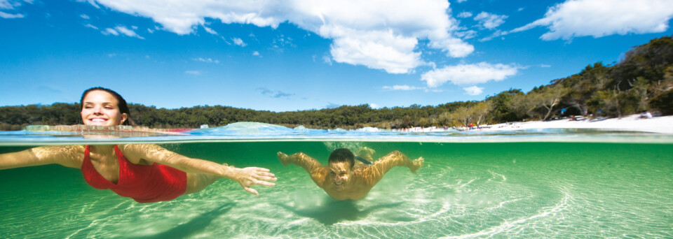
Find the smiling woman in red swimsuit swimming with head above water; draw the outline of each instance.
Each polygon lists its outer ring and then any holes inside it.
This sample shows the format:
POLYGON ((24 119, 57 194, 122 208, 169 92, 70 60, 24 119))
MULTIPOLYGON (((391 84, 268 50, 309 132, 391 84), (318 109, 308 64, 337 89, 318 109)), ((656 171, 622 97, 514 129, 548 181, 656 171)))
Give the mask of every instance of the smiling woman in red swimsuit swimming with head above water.
MULTIPOLYGON (((118 126, 130 123, 126 101, 111 89, 87 89, 81 98, 85 125, 118 126)), ((0 169, 60 164, 81 168, 84 179, 97 189, 111 189, 139 203, 168 201, 193 194, 219 178, 235 180, 259 196, 252 185, 275 186, 266 168, 235 168, 191 159, 158 145, 68 145, 34 147, 0 154, 0 169)))

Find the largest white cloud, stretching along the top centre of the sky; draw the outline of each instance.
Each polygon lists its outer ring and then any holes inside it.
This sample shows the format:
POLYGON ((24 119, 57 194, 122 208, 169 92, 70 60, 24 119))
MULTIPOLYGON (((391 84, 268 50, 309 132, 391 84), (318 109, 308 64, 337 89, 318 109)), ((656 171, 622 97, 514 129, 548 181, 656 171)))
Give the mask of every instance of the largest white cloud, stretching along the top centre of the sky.
POLYGON ((150 17, 163 29, 191 34, 205 19, 224 24, 276 28, 282 22, 332 39, 332 59, 340 63, 409 73, 427 64, 416 52, 418 39, 450 57, 465 57, 473 45, 453 35, 456 20, 446 0, 404 1, 172 1, 97 0, 95 3, 131 15, 150 17))

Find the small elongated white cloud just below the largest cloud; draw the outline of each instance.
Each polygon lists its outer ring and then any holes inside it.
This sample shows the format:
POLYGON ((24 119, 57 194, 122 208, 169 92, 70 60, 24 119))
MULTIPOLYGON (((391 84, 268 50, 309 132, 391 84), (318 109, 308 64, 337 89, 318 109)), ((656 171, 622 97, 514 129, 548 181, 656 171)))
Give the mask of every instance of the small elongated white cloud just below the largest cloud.
POLYGON ((473 85, 489 82, 490 80, 505 80, 515 75, 519 67, 505 64, 459 64, 444 66, 444 68, 428 71, 421 75, 428 87, 438 87, 450 81, 454 85, 473 85))

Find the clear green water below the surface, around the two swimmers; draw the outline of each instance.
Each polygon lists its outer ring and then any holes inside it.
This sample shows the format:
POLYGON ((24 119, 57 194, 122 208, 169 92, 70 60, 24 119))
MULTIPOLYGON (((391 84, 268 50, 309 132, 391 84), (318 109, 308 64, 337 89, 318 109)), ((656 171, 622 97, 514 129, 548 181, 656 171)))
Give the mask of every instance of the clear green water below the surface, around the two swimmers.
MULTIPOLYGON (((673 145, 637 143, 248 142, 163 145, 188 157, 270 168, 247 194, 219 180, 141 204, 62 166, 0 171, 3 238, 673 238, 673 145), (360 201, 333 201, 276 152, 327 164, 335 147, 423 157, 360 201)), ((0 147, 0 153, 25 147, 0 147)))

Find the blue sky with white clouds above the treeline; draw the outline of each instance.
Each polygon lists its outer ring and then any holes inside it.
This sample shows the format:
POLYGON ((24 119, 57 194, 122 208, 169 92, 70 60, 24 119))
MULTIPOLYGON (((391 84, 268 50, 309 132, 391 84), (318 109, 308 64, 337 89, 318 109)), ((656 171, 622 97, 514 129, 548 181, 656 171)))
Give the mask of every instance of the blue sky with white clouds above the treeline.
POLYGON ((673 1, 0 0, 0 106, 436 106, 671 36, 673 1), (250 3, 249 3, 250 2, 250 3))

